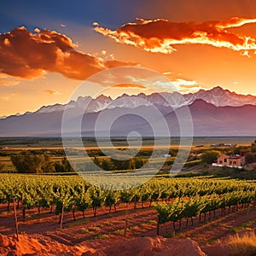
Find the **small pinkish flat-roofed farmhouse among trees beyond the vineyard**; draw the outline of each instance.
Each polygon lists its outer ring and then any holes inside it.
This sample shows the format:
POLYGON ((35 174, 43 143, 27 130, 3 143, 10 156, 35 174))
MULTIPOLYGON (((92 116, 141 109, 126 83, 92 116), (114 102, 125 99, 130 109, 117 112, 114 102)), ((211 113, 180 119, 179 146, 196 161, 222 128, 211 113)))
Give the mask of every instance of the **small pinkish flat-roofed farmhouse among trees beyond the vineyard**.
POLYGON ((245 166, 245 156, 241 154, 237 155, 225 155, 221 154, 212 166, 229 166, 242 168, 245 166))

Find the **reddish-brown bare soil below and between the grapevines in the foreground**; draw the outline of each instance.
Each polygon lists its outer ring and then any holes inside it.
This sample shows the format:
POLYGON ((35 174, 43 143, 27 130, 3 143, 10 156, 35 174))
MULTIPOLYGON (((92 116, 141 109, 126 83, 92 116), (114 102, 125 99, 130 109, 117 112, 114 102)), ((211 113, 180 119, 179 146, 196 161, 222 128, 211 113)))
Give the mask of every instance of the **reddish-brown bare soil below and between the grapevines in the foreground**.
MULTIPOLYGON (((256 207, 251 206, 225 216, 220 216, 218 211, 216 218, 206 223, 199 224, 199 219, 195 218, 194 226, 189 223, 187 229, 183 220, 182 232, 177 232, 174 240, 165 239, 156 237, 157 218, 153 207, 133 209, 133 205, 130 205, 124 238, 126 205, 120 205, 118 212, 111 213, 108 213, 108 208, 102 207, 95 218, 91 210, 86 211, 86 218, 81 212, 76 212, 76 221, 73 221, 72 213, 65 213, 62 230, 59 229, 59 216, 49 213, 49 209, 44 209, 41 214, 38 214, 37 209, 32 209, 26 211, 25 222, 22 221, 21 210, 18 210, 21 235, 20 241, 16 242, 14 213, 3 212, 5 207, 1 207, 0 214, 0 234, 4 235, 0 237, 0 255, 7 255, 8 252, 12 252, 9 255, 60 255, 61 252, 61 255, 82 255, 86 252, 84 255, 174 255, 176 247, 179 249, 175 255, 203 255, 196 241, 207 255, 218 256, 224 255, 218 240, 232 234, 232 228, 248 221, 251 221, 248 224, 250 228, 256 227, 256 207)), ((140 207, 139 204, 137 207, 140 207)), ((166 230, 172 234, 172 224, 162 225, 160 235, 164 236, 166 230)))

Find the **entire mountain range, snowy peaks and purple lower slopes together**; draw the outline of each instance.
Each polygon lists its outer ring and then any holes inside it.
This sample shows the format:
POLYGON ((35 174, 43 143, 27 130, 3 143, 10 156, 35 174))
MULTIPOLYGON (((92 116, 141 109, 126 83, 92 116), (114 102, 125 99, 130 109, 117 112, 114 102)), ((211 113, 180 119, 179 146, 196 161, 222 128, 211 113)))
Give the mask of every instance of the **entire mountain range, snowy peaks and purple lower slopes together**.
POLYGON ((112 136, 126 136, 131 131, 137 131, 142 136, 165 135, 161 126, 157 125, 163 120, 169 126, 171 135, 179 136, 179 121, 189 125, 189 116, 185 114, 177 119, 177 113, 183 113, 187 108, 192 116, 195 136, 256 135, 256 96, 238 95, 218 86, 212 90, 199 90, 185 95, 162 92, 146 96, 141 93, 137 96, 124 94, 116 99, 103 95, 96 99, 79 96, 76 101, 67 104, 44 106, 34 113, 0 119, 0 137, 60 136, 65 108, 72 117, 68 120, 70 136, 75 135, 77 131, 73 124, 79 119, 77 113, 84 106, 87 107, 83 116, 82 134, 88 137, 95 135, 97 119, 102 122, 98 134, 108 135, 108 119, 115 116, 119 116, 119 119, 111 127, 112 136), (172 102, 172 106, 169 102, 172 102), (155 111, 155 108, 159 111, 155 111), (151 115, 156 131, 143 119, 143 115, 151 115))

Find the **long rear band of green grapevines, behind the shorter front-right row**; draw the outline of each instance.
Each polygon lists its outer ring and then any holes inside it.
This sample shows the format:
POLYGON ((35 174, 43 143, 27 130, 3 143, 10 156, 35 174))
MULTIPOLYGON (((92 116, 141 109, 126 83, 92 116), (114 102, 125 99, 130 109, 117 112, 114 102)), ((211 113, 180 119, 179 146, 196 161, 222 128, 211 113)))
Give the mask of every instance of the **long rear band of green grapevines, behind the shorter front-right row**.
MULTIPOLYGON (((33 207, 38 207, 38 212, 41 207, 55 207, 55 213, 61 213, 60 220, 63 212, 73 212, 75 219, 75 211, 83 212, 85 217, 84 212, 88 208, 92 208, 96 216, 99 207, 109 207, 110 212, 112 208, 116 210, 119 203, 132 202, 136 208, 139 202, 143 207, 146 201, 151 205, 153 201, 171 201, 175 198, 180 201, 183 197, 196 198, 196 195, 203 200, 208 195, 214 198, 219 195, 228 196, 236 191, 246 195, 253 194, 254 190, 255 183, 236 180, 227 182, 214 178, 153 178, 136 189, 113 191, 96 188, 76 176, 0 175, 0 203, 7 203, 9 207, 15 200, 18 205, 22 204, 23 218, 26 217, 26 210, 33 207)), ((192 199, 188 203, 195 207, 192 199)))

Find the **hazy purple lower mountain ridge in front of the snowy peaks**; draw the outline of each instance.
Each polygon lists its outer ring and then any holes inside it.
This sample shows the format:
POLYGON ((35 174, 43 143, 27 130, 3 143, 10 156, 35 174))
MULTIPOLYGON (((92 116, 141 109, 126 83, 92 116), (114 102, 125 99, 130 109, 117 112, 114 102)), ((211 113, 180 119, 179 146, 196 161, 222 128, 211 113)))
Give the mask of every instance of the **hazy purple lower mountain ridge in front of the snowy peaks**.
MULTIPOLYGON (((225 106, 216 107, 212 103, 205 102, 201 99, 188 106, 177 109, 160 106, 159 113, 154 113, 154 106, 139 106, 135 109, 135 113, 145 113, 153 115, 154 123, 165 119, 170 128, 171 136, 179 136, 179 120, 176 112, 182 113, 183 108, 189 108, 194 125, 194 136, 255 136, 256 131, 256 106, 247 104, 239 107, 225 106), (174 111, 175 110, 175 111, 174 111)), ((69 120, 70 135, 78 134, 73 127, 73 123, 79 118, 76 116, 76 109, 69 108, 67 111, 71 113, 72 119, 69 120)), ((30 113, 23 116, 12 116, 7 119, 0 120, 0 134, 3 136, 60 136, 61 121, 63 111, 52 113, 30 113)), ((82 135, 88 137, 95 136, 96 119, 102 115, 102 125, 99 134, 101 136, 108 135, 108 125, 104 125, 105 120, 108 123, 108 117, 121 116, 111 127, 112 136, 127 136, 131 131, 137 131, 145 137, 164 136, 160 129, 152 132, 147 122, 140 117, 132 116, 129 108, 106 108, 97 113, 84 113, 82 120, 82 135), (105 118, 105 120, 104 120, 105 118), (106 128, 107 127, 107 128, 106 128)), ((184 125, 189 124, 187 116, 179 117, 184 125)))

